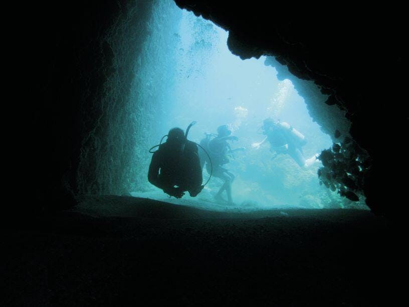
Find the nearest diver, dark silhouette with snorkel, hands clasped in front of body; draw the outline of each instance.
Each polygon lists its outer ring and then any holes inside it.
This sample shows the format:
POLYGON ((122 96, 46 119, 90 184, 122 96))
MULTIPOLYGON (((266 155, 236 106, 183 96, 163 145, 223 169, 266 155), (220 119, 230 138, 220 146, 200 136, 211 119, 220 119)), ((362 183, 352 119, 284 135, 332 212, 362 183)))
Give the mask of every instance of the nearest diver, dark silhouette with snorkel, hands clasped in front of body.
POLYGON ((153 152, 149 165, 149 182, 176 198, 181 198, 185 191, 195 197, 203 189, 197 145, 187 139, 194 123, 187 127, 186 134, 180 128, 170 129, 166 142, 156 145, 159 149, 153 152))

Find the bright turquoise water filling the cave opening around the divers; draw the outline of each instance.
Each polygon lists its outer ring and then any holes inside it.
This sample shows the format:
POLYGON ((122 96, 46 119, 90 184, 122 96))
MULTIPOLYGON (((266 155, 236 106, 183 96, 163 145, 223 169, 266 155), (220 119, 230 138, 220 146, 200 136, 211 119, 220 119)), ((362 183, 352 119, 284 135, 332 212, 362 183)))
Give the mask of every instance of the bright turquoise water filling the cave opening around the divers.
MULTIPOLYGON (((227 124, 239 138, 230 142, 232 148, 246 149, 236 152, 226 165, 236 176, 234 208, 214 201, 223 183, 216 177, 195 198, 186 193, 180 200, 169 199, 147 181, 132 195, 213 210, 344 207, 348 200, 319 184, 319 161, 300 167, 290 155, 271 149, 268 141, 255 145, 264 139, 262 124, 269 117, 287 122, 305 136, 302 153, 306 159, 332 145, 310 117, 293 83, 280 81, 276 69, 265 64, 266 57, 241 60, 233 55, 227 47, 228 32, 212 22, 174 4, 155 10, 153 32, 145 46, 148 64, 145 75, 139 76, 145 78, 139 90, 155 99, 148 116, 155 123, 149 131, 152 145, 170 128, 185 129, 197 121, 189 132, 190 140, 199 143, 205 133, 216 133, 218 126, 227 124)), ((146 174, 146 169, 141 173, 146 174)), ((203 170, 204 182, 208 178, 203 170)))

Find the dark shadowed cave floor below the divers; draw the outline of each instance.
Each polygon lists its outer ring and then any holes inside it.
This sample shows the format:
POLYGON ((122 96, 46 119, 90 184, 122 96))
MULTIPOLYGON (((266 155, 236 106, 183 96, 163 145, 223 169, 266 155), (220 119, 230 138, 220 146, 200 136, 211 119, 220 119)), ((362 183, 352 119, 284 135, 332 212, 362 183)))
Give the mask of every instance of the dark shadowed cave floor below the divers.
POLYGON ((394 231, 367 210, 223 213, 87 197, 76 212, 9 229, 0 303, 396 305, 394 231))

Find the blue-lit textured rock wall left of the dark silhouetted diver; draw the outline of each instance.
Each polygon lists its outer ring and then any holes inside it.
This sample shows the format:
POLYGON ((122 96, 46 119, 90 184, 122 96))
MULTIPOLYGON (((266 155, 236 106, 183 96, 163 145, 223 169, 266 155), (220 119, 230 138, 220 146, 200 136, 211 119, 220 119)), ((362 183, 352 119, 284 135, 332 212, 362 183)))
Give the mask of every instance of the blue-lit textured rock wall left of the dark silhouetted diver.
MULTIPOLYGON (((112 61, 103 63, 110 74, 93 101, 98 120, 87 120, 77 175, 80 194, 122 195, 150 185, 148 149, 162 136, 156 130, 177 71, 175 55, 163 51, 175 49, 181 10, 172 2, 149 4, 141 8, 136 2, 101 38, 112 61)), ((82 111, 85 117, 88 108, 82 111)))

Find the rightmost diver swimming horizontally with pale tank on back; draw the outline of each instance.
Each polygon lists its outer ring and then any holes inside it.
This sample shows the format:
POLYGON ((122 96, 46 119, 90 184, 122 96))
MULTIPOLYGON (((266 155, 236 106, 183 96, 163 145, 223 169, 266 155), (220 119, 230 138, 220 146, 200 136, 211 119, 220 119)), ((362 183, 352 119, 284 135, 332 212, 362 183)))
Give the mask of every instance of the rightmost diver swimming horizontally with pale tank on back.
POLYGON ((263 121, 263 134, 266 137, 260 143, 253 143, 252 147, 259 149, 267 139, 270 142, 270 151, 277 154, 288 154, 300 167, 307 168, 318 162, 318 154, 309 159, 304 158, 302 146, 307 141, 305 136, 285 121, 274 121, 271 117, 263 121))

